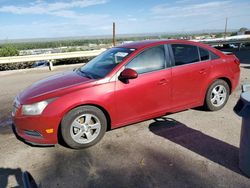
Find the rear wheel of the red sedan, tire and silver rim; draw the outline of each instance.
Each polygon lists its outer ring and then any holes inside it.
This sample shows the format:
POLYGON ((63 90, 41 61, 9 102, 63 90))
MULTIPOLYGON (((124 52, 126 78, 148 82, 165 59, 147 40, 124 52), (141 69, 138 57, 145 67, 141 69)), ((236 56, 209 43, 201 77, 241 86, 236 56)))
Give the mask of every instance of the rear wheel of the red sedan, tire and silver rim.
POLYGON ((222 109, 229 98, 230 88, 224 80, 214 81, 208 88, 205 98, 205 108, 209 111, 222 109))

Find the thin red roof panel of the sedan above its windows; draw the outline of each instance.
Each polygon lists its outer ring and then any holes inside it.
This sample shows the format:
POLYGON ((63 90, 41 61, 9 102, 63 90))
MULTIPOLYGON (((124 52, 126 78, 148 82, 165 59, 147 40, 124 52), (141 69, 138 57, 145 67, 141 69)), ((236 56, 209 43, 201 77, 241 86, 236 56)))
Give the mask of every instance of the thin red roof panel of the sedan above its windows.
POLYGON ((142 49, 151 46, 161 45, 161 44, 168 44, 168 43, 182 43, 182 44, 193 44, 197 45, 197 42, 188 41, 188 40, 176 40, 176 39, 167 39, 167 40, 144 40, 139 42, 131 42, 119 45, 117 47, 121 48, 132 48, 132 49, 142 49))

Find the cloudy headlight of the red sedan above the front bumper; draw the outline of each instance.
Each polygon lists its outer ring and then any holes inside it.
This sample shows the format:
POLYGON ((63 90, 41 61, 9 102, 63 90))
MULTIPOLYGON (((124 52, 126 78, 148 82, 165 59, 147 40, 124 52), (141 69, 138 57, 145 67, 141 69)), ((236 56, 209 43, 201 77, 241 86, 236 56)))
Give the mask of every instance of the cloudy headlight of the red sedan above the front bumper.
POLYGON ((52 102, 54 99, 45 100, 33 104, 23 105, 22 114, 23 115, 39 115, 43 112, 46 106, 52 102))

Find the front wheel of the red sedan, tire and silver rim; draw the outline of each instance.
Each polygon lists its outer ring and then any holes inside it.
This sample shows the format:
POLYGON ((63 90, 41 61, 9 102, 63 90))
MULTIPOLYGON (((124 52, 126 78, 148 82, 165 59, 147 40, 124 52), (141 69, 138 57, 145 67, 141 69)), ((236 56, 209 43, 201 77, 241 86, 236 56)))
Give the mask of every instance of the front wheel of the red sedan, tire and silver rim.
POLYGON ((80 106, 68 112, 61 122, 64 142, 73 149, 83 149, 98 143, 107 129, 102 110, 94 106, 80 106))

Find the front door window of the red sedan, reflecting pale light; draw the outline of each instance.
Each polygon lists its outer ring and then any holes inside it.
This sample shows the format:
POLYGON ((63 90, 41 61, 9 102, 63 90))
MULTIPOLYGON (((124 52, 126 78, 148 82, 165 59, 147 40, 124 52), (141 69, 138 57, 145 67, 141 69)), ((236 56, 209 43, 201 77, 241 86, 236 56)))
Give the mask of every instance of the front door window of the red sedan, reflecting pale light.
POLYGON ((145 50, 130 61, 126 68, 134 69, 138 74, 164 69, 164 46, 157 46, 145 50))

